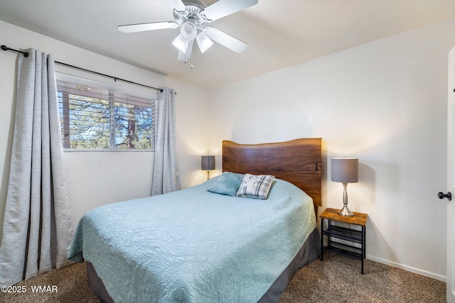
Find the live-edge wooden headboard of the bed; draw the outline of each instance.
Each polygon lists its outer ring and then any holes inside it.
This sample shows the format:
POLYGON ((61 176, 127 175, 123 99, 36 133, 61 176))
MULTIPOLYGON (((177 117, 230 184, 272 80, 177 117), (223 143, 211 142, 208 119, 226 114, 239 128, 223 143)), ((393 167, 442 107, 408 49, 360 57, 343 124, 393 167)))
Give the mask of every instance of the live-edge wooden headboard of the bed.
POLYGON ((223 172, 274 175, 291 182, 313 198, 314 210, 321 199, 321 138, 287 142, 237 144, 223 141, 223 172))

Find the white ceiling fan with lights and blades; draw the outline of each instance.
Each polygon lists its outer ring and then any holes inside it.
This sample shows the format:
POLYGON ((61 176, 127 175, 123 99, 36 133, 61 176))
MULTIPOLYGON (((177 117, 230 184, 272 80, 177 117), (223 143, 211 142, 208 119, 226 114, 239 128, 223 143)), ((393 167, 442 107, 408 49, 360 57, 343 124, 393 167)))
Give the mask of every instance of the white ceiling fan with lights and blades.
POLYGON ((119 31, 135 33, 164 28, 178 28, 180 26, 180 34, 173 40, 172 44, 178 48, 177 59, 185 62, 191 57, 191 50, 195 39, 201 53, 208 50, 213 45, 213 41, 224 45, 236 53, 242 53, 247 49, 247 43, 217 28, 205 25, 232 13, 237 13, 237 11, 254 6, 259 0, 218 0, 209 6, 200 0, 167 1, 173 8, 175 21, 129 24, 118 26, 119 31))

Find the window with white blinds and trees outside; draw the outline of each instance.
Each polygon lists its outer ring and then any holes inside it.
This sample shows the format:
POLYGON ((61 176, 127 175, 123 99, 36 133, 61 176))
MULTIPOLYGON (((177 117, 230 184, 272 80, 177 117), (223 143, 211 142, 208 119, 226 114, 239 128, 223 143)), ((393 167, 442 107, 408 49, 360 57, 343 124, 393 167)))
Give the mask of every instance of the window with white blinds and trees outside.
POLYGON ((156 100, 57 81, 64 148, 153 150, 156 100))

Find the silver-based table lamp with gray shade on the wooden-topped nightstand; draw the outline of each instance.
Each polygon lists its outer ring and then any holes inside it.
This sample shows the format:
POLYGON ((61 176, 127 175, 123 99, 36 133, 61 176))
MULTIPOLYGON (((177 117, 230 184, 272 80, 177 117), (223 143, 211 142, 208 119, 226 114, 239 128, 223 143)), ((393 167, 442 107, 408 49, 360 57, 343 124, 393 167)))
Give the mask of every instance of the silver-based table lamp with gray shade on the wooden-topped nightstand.
POLYGON ((343 183, 343 208, 338 211, 341 216, 354 216, 348 209, 348 183, 358 182, 358 158, 332 158, 331 159, 332 181, 343 183))

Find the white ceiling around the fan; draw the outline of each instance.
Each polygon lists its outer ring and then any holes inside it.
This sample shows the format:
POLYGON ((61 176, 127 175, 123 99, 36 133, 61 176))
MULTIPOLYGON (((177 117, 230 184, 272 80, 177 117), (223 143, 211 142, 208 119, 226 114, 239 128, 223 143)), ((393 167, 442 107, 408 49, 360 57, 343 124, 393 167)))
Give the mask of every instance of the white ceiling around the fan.
MULTIPOLYGON (((173 21, 167 0, 0 0, 2 21, 203 89, 453 17, 454 0, 259 0, 210 23, 248 43, 244 53, 215 43, 201 54, 195 45, 185 64, 176 60, 178 50, 171 45, 178 28, 117 31, 118 25, 173 21)), ((27 41, 6 46, 33 47, 27 41)))

